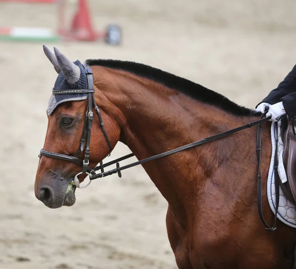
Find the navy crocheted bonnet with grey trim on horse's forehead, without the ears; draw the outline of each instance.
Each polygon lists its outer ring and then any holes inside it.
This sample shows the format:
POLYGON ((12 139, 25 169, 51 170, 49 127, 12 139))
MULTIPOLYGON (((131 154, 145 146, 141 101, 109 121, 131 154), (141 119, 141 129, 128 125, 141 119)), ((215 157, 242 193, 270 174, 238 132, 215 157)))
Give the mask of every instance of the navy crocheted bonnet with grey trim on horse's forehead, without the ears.
MULTIPOLYGON (((74 64, 80 68, 80 78, 75 84, 70 84, 66 80, 62 72, 58 75, 54 87, 52 90, 69 90, 69 89, 88 89, 87 75, 85 69, 79 60, 75 61, 74 64)), ((67 94, 52 94, 50 96, 47 114, 51 115, 56 107, 64 102, 68 101, 80 101, 87 98, 87 93, 67 93, 67 94)))

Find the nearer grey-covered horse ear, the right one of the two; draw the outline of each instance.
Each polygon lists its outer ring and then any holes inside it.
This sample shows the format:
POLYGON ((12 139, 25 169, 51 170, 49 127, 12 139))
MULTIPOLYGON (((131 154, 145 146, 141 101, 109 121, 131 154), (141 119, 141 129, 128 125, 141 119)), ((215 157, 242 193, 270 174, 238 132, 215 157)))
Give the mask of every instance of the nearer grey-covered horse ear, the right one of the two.
POLYGON ((66 80, 70 84, 75 84, 80 78, 80 68, 56 47, 53 47, 53 49, 66 80))

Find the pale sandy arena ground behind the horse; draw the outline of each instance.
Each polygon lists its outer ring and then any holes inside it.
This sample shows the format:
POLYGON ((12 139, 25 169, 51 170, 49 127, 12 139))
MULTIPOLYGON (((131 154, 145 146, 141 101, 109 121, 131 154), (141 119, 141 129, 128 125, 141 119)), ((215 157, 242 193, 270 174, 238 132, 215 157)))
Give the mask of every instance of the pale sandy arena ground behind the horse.
MULTIPOLYGON (((93 28, 119 25, 122 43, 45 42, 73 61, 145 63, 250 108, 296 64, 295 0, 87 2, 93 28)), ((76 6, 65 6, 68 28, 76 6)), ((55 31, 57 3, 0 0, 0 28, 15 26, 55 31)), ((70 208, 52 210, 35 198, 37 155, 56 78, 42 44, 0 40, 0 268, 175 269, 167 202, 141 167, 76 190, 70 208)), ((110 158, 128 152, 118 144, 110 158)))

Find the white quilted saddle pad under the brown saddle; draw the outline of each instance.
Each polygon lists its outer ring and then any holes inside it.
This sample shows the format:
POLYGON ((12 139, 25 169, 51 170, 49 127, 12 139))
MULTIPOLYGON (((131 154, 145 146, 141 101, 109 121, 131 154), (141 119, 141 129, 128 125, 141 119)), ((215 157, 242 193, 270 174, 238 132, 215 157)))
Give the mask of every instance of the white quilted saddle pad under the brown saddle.
MULTIPOLYGON (((272 144, 272 154, 270 160, 270 167, 268 171, 268 179, 267 179, 267 197, 269 206, 275 214, 275 187, 274 187, 274 156, 275 156, 275 123, 271 124, 271 144, 272 144)), ((283 150, 284 150, 284 143, 281 138, 281 121, 278 122, 278 172, 281 181, 284 183, 287 181, 287 176, 283 164, 283 150)), ((284 195, 283 190, 280 186, 280 201, 279 201, 279 209, 277 213, 277 218, 282 221, 283 223, 296 228, 296 206, 292 204, 284 195)))

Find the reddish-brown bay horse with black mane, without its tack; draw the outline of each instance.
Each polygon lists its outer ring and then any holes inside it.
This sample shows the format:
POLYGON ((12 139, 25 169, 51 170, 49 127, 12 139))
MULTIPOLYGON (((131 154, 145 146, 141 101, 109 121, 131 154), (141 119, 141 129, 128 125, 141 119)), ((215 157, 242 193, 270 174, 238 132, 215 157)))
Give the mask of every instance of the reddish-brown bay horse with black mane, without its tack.
MULTIPOLYGON (((44 51, 59 73, 55 87, 65 82, 77 89, 74 85, 83 73, 80 62, 73 63, 56 48, 55 53, 47 47, 44 51)), ((105 128, 93 118, 89 140, 92 168, 118 141, 142 160, 259 119, 254 110, 215 91, 144 64, 117 60, 87 60, 86 64, 93 79, 88 88, 94 89, 105 128)), ((89 103, 87 98, 57 101, 47 109, 43 149, 74 158, 89 103)), ((270 122, 263 124, 262 132, 261 171, 266 186, 270 122)), ((294 268, 296 232, 281 222, 274 232, 267 231, 259 219, 256 136, 257 129, 250 128, 142 164, 168 202, 167 233, 178 268, 294 268)), ((83 152, 78 153, 82 162, 83 152)), ((41 155, 36 197, 50 208, 72 206, 75 186, 71 191, 69 186, 81 167, 41 155)), ((80 176, 79 181, 84 178, 80 176)), ((265 188, 262 194, 265 220, 272 222, 265 188)))

